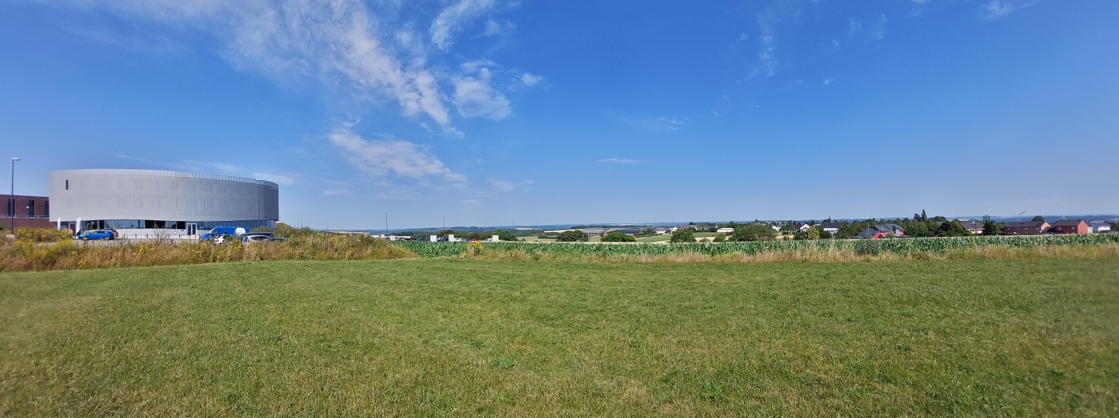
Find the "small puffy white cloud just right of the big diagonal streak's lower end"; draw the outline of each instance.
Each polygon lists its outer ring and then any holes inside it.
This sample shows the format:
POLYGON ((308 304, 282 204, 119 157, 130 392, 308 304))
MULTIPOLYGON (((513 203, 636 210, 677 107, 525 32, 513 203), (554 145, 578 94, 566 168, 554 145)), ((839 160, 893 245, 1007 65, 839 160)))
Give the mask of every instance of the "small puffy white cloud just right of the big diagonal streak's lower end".
POLYGON ((487 117, 500 121, 513 113, 513 103, 490 86, 489 61, 472 61, 462 65, 464 75, 455 77, 452 102, 463 117, 487 117))

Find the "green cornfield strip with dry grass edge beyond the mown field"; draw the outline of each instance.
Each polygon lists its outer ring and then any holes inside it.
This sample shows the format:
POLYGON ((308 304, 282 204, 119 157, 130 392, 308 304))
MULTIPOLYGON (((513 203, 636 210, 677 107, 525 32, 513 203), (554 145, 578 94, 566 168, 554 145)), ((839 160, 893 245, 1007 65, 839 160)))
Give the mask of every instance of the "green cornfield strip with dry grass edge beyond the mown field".
POLYGON ((1032 248, 1049 246, 1091 246, 1119 243, 1119 234, 1101 235, 1037 235, 960 238, 908 238, 862 240, 767 240, 749 243, 696 244, 579 244, 579 243, 425 243, 398 241, 396 245, 415 251, 421 257, 460 257, 481 250, 496 253, 539 254, 560 257, 658 257, 680 255, 755 256, 762 254, 834 251, 857 256, 883 254, 911 255, 914 253, 943 254, 957 249, 987 247, 1032 248))

